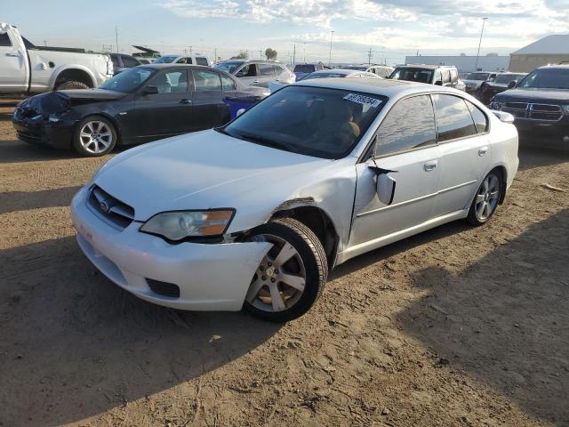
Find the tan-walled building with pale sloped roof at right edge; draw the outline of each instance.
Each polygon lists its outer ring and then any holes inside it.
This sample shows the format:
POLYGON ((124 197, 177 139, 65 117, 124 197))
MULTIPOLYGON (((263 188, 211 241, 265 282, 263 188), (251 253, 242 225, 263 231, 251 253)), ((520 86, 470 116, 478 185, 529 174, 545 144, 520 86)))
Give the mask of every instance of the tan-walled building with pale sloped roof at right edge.
POLYGON ((529 73, 548 64, 569 63, 569 34, 547 36, 510 54, 509 70, 529 73))

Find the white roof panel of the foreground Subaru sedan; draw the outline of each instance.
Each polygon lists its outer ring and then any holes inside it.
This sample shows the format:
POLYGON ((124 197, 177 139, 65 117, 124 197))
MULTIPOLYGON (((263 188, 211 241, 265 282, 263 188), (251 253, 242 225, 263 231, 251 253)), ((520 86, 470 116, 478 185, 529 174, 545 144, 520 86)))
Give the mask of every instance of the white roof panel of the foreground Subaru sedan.
POLYGON ((424 83, 407 82, 405 80, 390 80, 388 78, 315 78, 310 80, 301 80, 296 82, 294 85, 373 93, 377 95, 384 95, 389 98, 424 92, 461 92, 445 86, 427 85, 424 83))

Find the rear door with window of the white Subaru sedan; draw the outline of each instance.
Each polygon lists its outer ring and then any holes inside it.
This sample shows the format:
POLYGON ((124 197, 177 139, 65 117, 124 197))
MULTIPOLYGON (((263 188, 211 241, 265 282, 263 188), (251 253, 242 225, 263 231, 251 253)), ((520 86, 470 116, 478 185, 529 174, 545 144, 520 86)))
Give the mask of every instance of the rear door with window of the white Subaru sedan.
POLYGON ((460 96, 434 94, 440 184, 436 216, 469 207, 490 165, 488 118, 460 96))

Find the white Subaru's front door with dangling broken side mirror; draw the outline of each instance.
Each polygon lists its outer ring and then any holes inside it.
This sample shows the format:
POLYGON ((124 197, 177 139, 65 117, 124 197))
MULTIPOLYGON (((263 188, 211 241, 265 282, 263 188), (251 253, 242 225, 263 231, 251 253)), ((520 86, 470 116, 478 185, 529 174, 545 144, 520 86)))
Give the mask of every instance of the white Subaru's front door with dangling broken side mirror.
POLYGON ((433 217, 440 168, 429 95, 398 101, 376 133, 372 158, 357 165, 357 190, 349 246, 409 229, 433 217), (381 202, 378 173, 396 180, 393 199, 381 202))

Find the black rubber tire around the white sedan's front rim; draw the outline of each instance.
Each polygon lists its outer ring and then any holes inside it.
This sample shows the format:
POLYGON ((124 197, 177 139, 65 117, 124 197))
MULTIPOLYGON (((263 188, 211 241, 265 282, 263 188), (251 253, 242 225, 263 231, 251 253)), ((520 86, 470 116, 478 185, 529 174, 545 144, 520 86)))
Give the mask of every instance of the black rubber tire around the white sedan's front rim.
POLYGON ((294 246, 304 262, 306 285, 299 301, 287 310, 268 312, 254 307, 247 301, 244 302, 244 310, 271 322, 281 323, 300 318, 317 302, 328 278, 328 262, 324 247, 312 230, 293 218, 278 218, 252 231, 252 236, 260 234, 283 238, 294 246))

